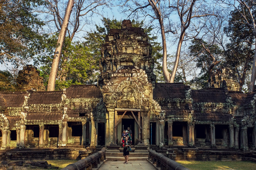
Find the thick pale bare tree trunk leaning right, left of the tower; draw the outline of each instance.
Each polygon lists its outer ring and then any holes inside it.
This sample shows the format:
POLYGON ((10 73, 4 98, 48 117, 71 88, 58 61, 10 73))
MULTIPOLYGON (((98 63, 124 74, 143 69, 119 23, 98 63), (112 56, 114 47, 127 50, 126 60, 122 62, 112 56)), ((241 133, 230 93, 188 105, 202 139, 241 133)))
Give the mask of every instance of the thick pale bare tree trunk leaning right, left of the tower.
POLYGON ((61 51, 62 51, 63 43, 65 40, 67 26, 68 26, 68 22, 69 22, 69 18, 70 18, 71 12, 72 12, 73 5, 74 5, 74 0, 69 0, 68 4, 67 4, 66 11, 65 11, 64 20, 63 20, 63 23, 61 26, 60 34, 58 37, 58 41, 57 41, 58 46, 56 47, 55 53, 54 53, 54 59, 53 59, 51 72, 49 75, 47 91, 54 91, 54 89, 55 89, 55 81, 56 81, 57 71, 59 68, 61 51))

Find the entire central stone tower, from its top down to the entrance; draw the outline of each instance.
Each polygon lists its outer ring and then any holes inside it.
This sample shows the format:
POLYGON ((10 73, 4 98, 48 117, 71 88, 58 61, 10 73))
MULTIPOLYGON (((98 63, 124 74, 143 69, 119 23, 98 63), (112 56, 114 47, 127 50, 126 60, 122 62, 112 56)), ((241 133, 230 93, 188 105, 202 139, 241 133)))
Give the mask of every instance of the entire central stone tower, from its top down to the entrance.
POLYGON ((144 29, 132 27, 130 20, 124 20, 121 29, 110 29, 106 36, 99 80, 107 110, 106 145, 119 144, 127 127, 133 131, 133 144, 149 144, 155 83, 151 53, 144 29))

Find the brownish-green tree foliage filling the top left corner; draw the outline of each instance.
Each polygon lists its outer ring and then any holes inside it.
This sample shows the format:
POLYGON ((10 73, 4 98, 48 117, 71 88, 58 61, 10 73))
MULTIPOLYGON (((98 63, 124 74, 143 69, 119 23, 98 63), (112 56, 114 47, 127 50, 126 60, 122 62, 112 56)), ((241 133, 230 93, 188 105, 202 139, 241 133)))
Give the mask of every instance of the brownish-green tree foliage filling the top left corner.
POLYGON ((44 25, 32 8, 43 0, 0 0, 0 63, 11 62, 14 66, 31 59, 40 51, 42 36, 39 29, 44 25))

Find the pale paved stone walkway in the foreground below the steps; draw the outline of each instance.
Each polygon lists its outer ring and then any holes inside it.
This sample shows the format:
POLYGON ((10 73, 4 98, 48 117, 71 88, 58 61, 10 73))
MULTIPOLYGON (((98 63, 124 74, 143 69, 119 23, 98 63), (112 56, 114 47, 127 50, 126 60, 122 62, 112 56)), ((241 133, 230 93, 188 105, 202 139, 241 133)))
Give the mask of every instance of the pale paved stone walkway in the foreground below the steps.
POLYGON ((148 161, 129 161, 128 164, 124 161, 106 161, 99 170, 155 170, 148 161))

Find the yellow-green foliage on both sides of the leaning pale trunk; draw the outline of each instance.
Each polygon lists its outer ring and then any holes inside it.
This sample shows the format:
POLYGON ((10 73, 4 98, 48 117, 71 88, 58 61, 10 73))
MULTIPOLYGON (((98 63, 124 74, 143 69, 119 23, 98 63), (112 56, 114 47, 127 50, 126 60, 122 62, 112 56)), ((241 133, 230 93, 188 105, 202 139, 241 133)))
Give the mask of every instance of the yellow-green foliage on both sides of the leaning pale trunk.
MULTIPOLYGON (((44 78, 44 84, 47 86, 51 70, 53 53, 57 44, 58 34, 45 38, 43 49, 37 56, 35 65, 40 66, 40 76, 44 78)), ((58 76, 55 90, 67 88, 70 85, 91 84, 97 81, 99 61, 94 58, 91 50, 83 42, 71 42, 68 37, 65 38, 59 65, 58 76)))

